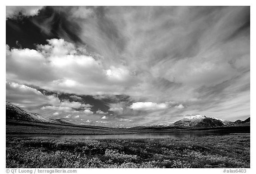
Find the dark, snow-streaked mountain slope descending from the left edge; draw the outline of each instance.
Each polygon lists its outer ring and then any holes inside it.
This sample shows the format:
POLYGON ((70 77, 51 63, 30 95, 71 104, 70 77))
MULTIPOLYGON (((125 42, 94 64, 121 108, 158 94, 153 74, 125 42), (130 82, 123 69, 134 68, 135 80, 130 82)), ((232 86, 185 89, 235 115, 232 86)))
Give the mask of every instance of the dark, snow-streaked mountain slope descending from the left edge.
POLYGON ((42 117, 40 114, 26 112, 23 109, 17 107, 16 105, 6 101, 6 120, 19 120, 19 121, 32 121, 32 122, 44 122, 44 123, 61 123, 61 124, 73 124, 69 121, 62 119, 48 119, 42 117))

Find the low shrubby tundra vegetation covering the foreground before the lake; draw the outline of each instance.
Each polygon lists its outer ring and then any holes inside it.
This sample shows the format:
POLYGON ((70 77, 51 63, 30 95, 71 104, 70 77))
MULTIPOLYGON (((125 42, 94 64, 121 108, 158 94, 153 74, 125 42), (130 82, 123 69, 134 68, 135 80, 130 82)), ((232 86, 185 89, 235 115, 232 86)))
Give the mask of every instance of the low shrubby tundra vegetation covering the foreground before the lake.
POLYGON ((6 138, 6 168, 250 168, 250 134, 184 139, 6 138))

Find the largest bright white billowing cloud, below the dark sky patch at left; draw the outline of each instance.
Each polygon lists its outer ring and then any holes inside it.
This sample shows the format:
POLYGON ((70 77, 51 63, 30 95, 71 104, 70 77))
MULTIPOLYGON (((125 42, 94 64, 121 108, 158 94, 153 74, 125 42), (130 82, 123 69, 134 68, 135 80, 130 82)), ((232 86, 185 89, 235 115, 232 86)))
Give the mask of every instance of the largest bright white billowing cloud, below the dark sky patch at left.
POLYGON ((37 50, 6 51, 6 77, 44 89, 79 94, 120 94, 135 78, 124 67, 109 66, 63 39, 48 40, 37 50))

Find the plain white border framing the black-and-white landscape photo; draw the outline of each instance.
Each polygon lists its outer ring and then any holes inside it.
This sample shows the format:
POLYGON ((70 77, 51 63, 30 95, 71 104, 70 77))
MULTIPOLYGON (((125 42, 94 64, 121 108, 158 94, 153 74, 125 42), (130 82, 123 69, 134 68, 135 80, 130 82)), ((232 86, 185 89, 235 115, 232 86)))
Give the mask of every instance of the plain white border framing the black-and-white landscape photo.
MULTIPOLYGON (((1 62, 0 62, 0 111, 1 111, 1 117, 2 120, 0 121, 0 132, 1 132, 1 138, 2 142, 0 144, 0 152, 1 152, 1 158, 0 158, 0 172, 5 173, 5 38, 6 38, 6 31, 5 31, 5 6, 6 5, 107 5, 107 6, 119 6, 119 5, 147 5, 147 6, 159 6, 159 5, 172 5, 172 6, 180 6, 180 5, 186 5, 186 6, 197 6, 197 5, 208 5, 208 6, 251 6, 251 169, 247 169, 247 173, 255 173, 256 171, 256 160, 255 160, 255 113, 256 113, 256 106, 254 105, 255 102, 255 0, 177 0, 177 1, 171 1, 171 0, 127 0, 127 1, 121 1, 121 0, 72 0, 72 1, 63 1, 63 0, 43 0, 41 2, 35 1, 35 0, 5 0, 4 2, 1 1, 0 6, 0 13, 1 13, 1 23, 2 27, 1 29, 1 62), (254 31, 254 32, 253 32, 254 31), (254 171, 254 172, 253 172, 254 171)), ((131 172, 135 173, 156 173, 156 172, 163 172, 168 174, 176 174, 176 173, 197 173, 197 174, 223 174, 223 169, 77 169, 78 174, 89 174, 91 172, 101 172, 106 174, 120 174, 122 172, 123 174, 130 174, 131 172)))

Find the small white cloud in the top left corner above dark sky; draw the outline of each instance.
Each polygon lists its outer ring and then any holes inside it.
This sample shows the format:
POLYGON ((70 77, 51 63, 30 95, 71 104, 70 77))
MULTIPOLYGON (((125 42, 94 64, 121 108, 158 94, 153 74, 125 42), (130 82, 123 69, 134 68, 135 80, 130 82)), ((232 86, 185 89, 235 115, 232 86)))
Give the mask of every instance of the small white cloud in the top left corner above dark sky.
POLYGON ((20 14, 34 16, 39 13, 43 6, 6 6, 6 19, 17 18, 20 14))

